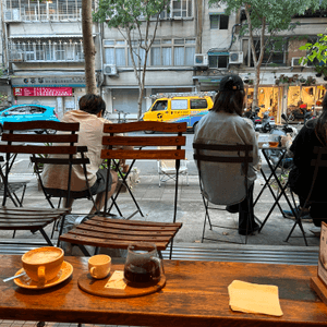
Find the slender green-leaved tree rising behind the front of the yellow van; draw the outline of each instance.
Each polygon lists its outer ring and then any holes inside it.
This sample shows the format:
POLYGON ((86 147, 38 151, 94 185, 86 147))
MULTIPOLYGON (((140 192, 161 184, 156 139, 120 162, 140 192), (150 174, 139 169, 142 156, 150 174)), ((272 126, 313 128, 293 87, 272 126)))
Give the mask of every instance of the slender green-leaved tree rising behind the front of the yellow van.
POLYGON ((146 65, 156 38, 159 14, 170 0, 99 0, 94 20, 117 28, 128 41, 134 75, 138 85, 137 118, 142 114, 146 65))

